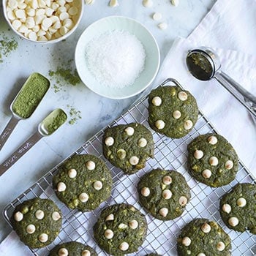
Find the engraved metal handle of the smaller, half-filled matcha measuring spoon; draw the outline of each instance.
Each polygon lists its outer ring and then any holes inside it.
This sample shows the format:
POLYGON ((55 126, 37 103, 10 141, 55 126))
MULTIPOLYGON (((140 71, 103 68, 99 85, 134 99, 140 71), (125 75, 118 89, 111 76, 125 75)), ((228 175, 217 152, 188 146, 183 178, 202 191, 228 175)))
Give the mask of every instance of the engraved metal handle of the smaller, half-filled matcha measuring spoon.
POLYGON ((23 143, 15 152, 11 154, 10 157, 4 160, 4 162, 0 165, 0 176, 5 173, 15 162, 26 154, 30 148, 32 148, 37 141, 39 141, 43 136, 38 131, 34 133, 25 143, 23 143))

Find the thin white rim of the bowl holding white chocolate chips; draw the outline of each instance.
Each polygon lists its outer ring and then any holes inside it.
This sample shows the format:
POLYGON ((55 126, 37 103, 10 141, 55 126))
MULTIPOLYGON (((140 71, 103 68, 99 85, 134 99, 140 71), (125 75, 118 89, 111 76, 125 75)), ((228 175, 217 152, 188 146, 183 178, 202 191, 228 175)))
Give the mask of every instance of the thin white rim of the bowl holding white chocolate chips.
POLYGON ((83 0, 78 0, 80 1, 81 3, 81 8, 80 8, 80 15, 78 17, 78 20, 77 22, 75 23, 75 26, 72 27, 72 29, 70 29, 67 34, 64 34, 64 36, 62 37, 59 37, 59 38, 56 38, 56 39, 53 39, 53 40, 48 40, 48 41, 35 41, 35 40, 31 40, 29 39, 28 37, 25 37, 23 36, 23 34, 21 34, 19 31, 17 31, 13 26, 12 26, 12 23, 10 21, 10 19, 8 18, 7 16, 7 1, 8 0, 2 0, 2 7, 3 7, 3 12, 4 12, 4 18, 5 20, 7 21, 8 25, 10 26, 10 28, 12 29, 12 31, 15 32, 15 34, 17 34, 19 37, 23 38, 23 39, 26 39, 27 41, 29 42, 36 42, 38 44, 52 44, 54 42, 61 42, 62 40, 66 39, 67 37, 69 37, 77 28, 78 28, 78 25, 80 23, 80 20, 82 19, 83 17, 83 12, 84 12, 84 4, 83 4, 83 0))

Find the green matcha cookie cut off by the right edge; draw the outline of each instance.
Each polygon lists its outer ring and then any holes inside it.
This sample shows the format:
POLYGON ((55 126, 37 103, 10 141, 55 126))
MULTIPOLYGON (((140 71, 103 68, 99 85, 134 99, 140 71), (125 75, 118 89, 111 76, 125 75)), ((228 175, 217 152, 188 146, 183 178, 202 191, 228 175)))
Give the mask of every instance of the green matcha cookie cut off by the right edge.
POLYGON ((256 185, 237 184, 222 197, 219 211, 227 227, 256 234, 256 185))

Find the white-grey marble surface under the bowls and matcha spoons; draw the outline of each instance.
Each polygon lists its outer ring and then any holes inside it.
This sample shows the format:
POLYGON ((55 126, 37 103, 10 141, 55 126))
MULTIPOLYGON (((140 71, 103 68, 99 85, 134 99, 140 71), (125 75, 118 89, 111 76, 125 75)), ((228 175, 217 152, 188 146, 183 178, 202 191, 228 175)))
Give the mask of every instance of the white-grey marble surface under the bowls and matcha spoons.
MULTIPOLYGON (((124 15, 143 23, 157 39, 161 59, 170 49, 177 36, 187 37, 200 23, 213 6, 215 0, 181 0, 178 7, 173 7, 169 0, 154 0, 154 7, 146 8, 142 0, 119 1, 119 6, 108 7, 108 0, 96 0, 94 5, 86 6, 83 19, 75 34, 54 45, 37 45, 17 37, 7 25, 0 7, 0 40, 3 37, 15 38, 18 48, 0 63, 0 130, 4 129, 11 117, 10 103, 14 99, 26 78, 32 72, 40 72, 48 77, 48 71, 74 59, 75 44, 78 37, 89 24, 108 15, 124 15), (151 15, 162 12, 162 21, 168 28, 161 31, 159 22, 151 15)), ((66 66, 67 67, 67 66, 66 66)), ((75 64, 71 61, 70 68, 75 64)), ((23 143, 37 129, 37 124, 54 108, 69 111, 67 105, 80 110, 81 118, 75 124, 64 124, 54 135, 43 138, 34 148, 0 177, 0 209, 29 188, 38 178, 48 172, 62 159, 72 154, 102 127, 109 124, 134 102, 137 97, 123 100, 105 99, 89 91, 82 83, 77 86, 66 84, 61 91, 54 92, 54 80, 50 91, 43 99, 36 112, 26 121, 20 121, 11 137, 2 148, 0 162, 23 143)), ((70 119, 70 118, 69 118, 70 119)), ((0 217, 0 241, 10 232, 10 227, 0 217)))

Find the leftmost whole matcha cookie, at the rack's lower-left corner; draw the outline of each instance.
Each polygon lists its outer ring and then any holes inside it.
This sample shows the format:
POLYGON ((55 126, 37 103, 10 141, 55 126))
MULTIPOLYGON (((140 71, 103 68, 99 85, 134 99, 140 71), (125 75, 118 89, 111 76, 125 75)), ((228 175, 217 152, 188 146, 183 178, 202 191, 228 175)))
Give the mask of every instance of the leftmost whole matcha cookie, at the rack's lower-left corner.
POLYGON ((61 211, 52 200, 34 198, 16 206, 10 221, 24 244, 42 248, 58 236, 61 211))

